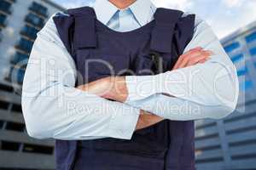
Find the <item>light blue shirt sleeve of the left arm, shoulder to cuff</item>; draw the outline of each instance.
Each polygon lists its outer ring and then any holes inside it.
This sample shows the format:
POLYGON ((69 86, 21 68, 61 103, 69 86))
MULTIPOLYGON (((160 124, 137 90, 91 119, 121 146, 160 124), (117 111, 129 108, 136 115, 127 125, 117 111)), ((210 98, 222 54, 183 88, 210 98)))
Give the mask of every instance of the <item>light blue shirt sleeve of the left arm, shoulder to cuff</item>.
POLYGON ((139 109, 74 88, 74 61, 52 17, 38 32, 26 67, 21 105, 38 139, 131 139, 139 109))

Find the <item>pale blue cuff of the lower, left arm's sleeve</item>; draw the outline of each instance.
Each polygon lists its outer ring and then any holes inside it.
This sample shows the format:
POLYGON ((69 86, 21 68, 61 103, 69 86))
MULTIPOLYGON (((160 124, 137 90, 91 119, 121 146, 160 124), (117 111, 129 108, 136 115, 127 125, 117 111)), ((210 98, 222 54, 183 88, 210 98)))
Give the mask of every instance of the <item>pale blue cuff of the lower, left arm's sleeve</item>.
POLYGON ((115 111, 109 123, 109 137, 116 139, 131 139, 136 130, 140 109, 124 105, 122 111, 115 111))

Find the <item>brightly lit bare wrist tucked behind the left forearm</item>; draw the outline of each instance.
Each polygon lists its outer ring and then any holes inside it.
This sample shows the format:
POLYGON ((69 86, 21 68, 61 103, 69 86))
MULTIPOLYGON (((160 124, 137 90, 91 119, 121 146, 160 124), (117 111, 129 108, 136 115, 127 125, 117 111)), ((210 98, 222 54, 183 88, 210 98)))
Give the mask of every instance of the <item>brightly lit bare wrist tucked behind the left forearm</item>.
POLYGON ((96 94, 105 99, 124 102, 128 96, 125 77, 104 77, 78 87, 80 90, 96 94))

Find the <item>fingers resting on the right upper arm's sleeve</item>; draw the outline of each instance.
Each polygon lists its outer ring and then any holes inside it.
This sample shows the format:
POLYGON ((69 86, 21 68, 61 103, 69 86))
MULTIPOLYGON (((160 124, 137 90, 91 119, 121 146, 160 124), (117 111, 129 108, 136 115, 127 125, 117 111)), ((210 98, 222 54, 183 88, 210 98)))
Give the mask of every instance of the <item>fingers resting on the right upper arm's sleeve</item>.
POLYGON ((193 48, 187 53, 182 54, 178 59, 172 70, 184 68, 198 63, 204 63, 212 55, 212 51, 203 50, 203 48, 193 48))

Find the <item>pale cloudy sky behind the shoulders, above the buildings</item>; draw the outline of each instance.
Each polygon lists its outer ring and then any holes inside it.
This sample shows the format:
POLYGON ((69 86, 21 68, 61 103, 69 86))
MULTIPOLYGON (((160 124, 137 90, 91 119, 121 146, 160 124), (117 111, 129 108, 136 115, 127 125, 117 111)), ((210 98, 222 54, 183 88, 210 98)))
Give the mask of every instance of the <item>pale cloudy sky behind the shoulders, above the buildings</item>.
MULTIPOLYGON (((95 0, 54 0, 66 8, 93 5, 95 0)), ((157 7, 178 8, 207 20, 218 37, 225 37, 256 20, 256 0, 152 0, 157 7)))

